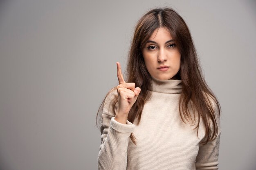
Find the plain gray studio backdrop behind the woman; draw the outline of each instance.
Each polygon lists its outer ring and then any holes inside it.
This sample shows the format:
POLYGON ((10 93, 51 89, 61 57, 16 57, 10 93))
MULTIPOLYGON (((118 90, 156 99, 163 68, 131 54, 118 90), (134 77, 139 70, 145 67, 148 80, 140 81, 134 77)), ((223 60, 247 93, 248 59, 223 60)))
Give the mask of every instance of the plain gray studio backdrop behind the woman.
POLYGON ((95 118, 134 26, 173 7, 222 106, 220 170, 256 169, 256 2, 0 1, 0 169, 97 169, 95 118))

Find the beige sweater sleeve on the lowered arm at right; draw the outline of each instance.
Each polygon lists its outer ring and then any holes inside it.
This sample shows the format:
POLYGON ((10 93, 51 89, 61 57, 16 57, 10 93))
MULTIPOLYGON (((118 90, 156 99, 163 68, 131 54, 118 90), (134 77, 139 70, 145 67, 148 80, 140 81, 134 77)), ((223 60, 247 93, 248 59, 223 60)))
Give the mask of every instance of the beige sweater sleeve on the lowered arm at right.
MULTIPOLYGON (((216 108, 217 109, 217 108, 216 108)), ((195 161, 196 170, 218 170, 218 156, 220 148, 220 116, 217 116, 215 109, 215 118, 218 126, 218 135, 213 141, 207 144, 199 144, 199 151, 195 161)), ((211 124, 212 125, 212 124, 211 124)))

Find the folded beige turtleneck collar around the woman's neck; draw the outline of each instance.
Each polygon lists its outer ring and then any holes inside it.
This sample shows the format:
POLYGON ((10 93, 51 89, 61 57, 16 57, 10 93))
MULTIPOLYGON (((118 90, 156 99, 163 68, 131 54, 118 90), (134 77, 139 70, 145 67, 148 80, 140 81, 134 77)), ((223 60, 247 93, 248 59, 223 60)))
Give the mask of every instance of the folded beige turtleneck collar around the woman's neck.
POLYGON ((182 92, 182 80, 159 80, 152 78, 152 90, 153 92, 167 93, 167 94, 180 94, 182 92))

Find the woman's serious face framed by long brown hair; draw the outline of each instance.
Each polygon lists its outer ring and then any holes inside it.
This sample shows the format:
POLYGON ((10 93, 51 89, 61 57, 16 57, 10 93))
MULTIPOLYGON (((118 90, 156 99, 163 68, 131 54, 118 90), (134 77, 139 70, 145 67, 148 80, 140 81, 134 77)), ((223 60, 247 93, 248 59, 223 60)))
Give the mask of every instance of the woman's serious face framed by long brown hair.
POLYGON ((176 79, 180 70, 180 52, 166 28, 156 29, 142 50, 146 68, 159 80, 176 79), (164 66, 166 68, 160 69, 164 66))

